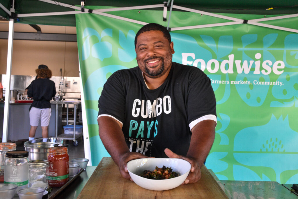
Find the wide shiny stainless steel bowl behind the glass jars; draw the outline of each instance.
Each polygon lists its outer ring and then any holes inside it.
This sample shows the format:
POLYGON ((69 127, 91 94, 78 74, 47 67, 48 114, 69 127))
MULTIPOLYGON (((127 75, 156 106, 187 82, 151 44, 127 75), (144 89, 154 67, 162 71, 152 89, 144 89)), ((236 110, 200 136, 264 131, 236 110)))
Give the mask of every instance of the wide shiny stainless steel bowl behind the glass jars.
POLYGON ((54 147, 54 144, 62 142, 62 138, 39 138, 26 141, 24 147, 29 152, 29 160, 47 160, 49 148, 54 147))

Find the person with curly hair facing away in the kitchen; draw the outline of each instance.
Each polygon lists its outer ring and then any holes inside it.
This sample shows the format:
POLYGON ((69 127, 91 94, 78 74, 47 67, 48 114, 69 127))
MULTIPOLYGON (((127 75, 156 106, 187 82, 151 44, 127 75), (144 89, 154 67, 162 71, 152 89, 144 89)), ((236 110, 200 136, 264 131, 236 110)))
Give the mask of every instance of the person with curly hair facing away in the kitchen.
POLYGON ((42 137, 48 137, 48 126, 51 117, 51 99, 56 95, 55 82, 49 80, 52 71, 46 65, 39 65, 35 70, 37 78, 27 87, 27 95, 33 98, 30 106, 30 131, 29 140, 33 140, 36 129, 41 121, 42 137))

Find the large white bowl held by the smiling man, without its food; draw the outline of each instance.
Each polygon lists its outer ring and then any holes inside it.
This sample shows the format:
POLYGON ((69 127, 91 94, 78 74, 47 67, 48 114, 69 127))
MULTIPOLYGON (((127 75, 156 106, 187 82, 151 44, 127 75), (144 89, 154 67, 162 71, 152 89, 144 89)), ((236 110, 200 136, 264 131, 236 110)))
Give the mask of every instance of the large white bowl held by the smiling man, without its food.
POLYGON ((189 162, 178 158, 141 158, 129 161, 126 167, 131 179, 137 185, 143 187, 144 189, 154 191, 173 189, 181 185, 187 178, 191 169, 189 162), (139 176, 144 172, 144 170, 153 171, 156 166, 171 167, 174 172, 179 174, 179 176, 165 180, 153 180, 139 176))

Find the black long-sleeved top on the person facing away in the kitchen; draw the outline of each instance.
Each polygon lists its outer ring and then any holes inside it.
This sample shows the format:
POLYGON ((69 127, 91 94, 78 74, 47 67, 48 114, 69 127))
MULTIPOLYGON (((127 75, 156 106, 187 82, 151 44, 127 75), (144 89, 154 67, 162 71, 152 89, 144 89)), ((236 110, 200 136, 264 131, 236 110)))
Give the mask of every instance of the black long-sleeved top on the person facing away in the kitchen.
POLYGON ((50 101, 56 95, 55 82, 48 78, 38 78, 31 82, 28 86, 27 95, 33 98, 30 106, 39 109, 51 108, 50 101))

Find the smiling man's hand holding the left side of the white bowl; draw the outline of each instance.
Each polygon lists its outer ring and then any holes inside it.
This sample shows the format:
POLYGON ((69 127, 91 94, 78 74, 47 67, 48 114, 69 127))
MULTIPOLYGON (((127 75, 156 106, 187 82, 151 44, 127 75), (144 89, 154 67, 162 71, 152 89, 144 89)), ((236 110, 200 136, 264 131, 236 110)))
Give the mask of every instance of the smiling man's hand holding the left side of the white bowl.
POLYGON ((142 153, 137 153, 137 152, 128 152, 123 154, 120 157, 118 162, 118 167, 123 178, 133 181, 128 173, 126 164, 131 160, 139 159, 139 158, 148 158, 148 157, 146 155, 143 155, 142 153))

